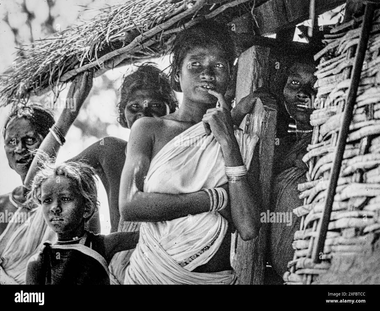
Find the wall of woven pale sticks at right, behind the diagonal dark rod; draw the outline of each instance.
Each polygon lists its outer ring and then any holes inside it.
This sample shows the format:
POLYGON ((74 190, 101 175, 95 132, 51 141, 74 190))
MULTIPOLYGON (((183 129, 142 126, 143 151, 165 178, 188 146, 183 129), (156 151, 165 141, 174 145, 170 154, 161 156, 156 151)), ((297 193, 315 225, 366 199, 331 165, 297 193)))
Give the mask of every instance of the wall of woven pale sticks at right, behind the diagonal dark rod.
POLYGON ((294 234, 294 260, 288 264, 290 271, 283 276, 288 284, 311 284, 318 276, 323 278, 327 271, 335 271, 337 278, 339 273, 344 277, 348 267, 357 268, 354 263, 359 256, 372 254, 380 236, 380 10, 377 10, 361 70, 325 246, 320 254, 322 262, 313 262, 318 222, 323 214, 360 24, 360 19, 356 19, 332 29, 326 36, 328 45, 317 55, 323 56, 315 73, 317 97, 327 96, 329 101, 321 103, 310 117, 314 126, 312 144, 303 158, 309 172, 307 182, 298 187, 304 205, 293 210, 302 221, 300 230, 294 234))

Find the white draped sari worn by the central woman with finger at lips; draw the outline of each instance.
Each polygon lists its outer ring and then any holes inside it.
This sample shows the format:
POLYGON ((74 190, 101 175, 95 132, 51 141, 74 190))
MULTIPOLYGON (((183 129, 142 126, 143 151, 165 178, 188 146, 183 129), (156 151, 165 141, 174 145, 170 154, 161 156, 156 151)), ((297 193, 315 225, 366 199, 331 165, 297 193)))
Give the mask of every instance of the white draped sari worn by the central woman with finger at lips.
MULTIPOLYGON (((235 136, 249 168, 258 137, 242 131, 235 131, 235 136)), ((180 194, 220 187, 227 182, 224 167, 219 143, 212 134, 206 135, 200 122, 154 156, 144 192, 180 194)), ((231 284, 232 271, 192 272, 215 255, 227 228, 227 220, 218 212, 142 223, 124 284, 231 284)))

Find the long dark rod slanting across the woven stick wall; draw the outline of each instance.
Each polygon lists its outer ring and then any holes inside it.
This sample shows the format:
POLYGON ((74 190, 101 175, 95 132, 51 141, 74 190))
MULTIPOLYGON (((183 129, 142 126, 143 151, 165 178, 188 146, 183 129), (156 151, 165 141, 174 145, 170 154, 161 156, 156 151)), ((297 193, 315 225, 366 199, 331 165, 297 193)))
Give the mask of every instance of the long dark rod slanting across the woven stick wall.
POLYGON ((356 93, 360 81, 361 69, 363 67, 364 56, 366 54, 367 43, 369 39, 369 32, 372 24, 372 17, 374 14, 374 3, 367 2, 366 10, 364 11, 363 24, 361 27, 360 40, 356 49, 355 63, 351 75, 351 84, 348 89, 347 102, 344 107, 343 121, 340 126, 338 134, 338 142, 336 146, 336 153, 332 170, 330 173, 329 187, 326 194, 325 209, 323 216, 318 223, 317 229, 317 244, 313 250, 312 258, 314 263, 320 263, 320 254, 323 254, 325 247, 326 234, 330 222, 332 203, 334 203, 334 196, 336 193, 337 182, 339 178, 340 168, 342 166, 342 159, 346 140, 352 120, 353 108, 356 102, 356 93))

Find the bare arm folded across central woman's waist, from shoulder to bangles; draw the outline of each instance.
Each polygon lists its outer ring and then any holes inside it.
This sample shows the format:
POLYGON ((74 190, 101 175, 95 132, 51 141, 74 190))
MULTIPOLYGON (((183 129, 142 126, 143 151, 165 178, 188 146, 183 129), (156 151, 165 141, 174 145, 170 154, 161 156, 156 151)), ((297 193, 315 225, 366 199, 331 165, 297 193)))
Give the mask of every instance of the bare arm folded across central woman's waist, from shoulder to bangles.
POLYGON ((209 211, 210 199, 204 191, 175 195, 143 192, 157 130, 157 121, 152 118, 141 118, 132 126, 120 180, 120 214, 129 221, 160 222, 209 211))

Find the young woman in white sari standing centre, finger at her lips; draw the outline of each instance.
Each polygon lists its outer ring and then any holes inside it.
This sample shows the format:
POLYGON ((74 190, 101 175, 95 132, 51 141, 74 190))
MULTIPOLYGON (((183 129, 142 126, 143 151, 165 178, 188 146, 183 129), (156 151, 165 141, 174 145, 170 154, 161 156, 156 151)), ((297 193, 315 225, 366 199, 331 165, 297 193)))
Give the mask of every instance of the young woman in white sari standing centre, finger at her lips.
POLYGON ((184 93, 179 110, 132 127, 119 207, 125 220, 144 223, 126 284, 231 284, 231 229, 244 240, 258 232, 258 174, 244 166, 257 137, 234 131, 241 119, 224 99, 234 55, 218 24, 182 31, 171 68, 184 93))

